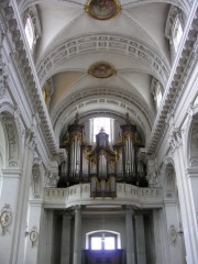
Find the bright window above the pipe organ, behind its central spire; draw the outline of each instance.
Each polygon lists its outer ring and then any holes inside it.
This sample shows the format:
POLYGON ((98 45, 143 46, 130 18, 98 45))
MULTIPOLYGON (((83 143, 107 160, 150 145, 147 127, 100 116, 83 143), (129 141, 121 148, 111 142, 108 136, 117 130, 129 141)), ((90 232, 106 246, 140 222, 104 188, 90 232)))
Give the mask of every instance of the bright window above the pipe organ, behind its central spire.
POLYGON ((89 120, 90 124, 90 142, 96 142, 96 135, 101 129, 109 135, 109 142, 113 141, 113 124, 114 119, 99 117, 89 120))

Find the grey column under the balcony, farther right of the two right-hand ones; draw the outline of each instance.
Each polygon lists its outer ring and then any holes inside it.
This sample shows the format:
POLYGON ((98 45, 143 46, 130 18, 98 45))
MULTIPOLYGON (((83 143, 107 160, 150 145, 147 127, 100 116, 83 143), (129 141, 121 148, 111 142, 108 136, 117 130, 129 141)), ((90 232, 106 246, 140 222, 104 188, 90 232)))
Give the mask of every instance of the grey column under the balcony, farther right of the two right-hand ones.
POLYGON ((138 264, 146 264, 145 233, 144 233, 144 218, 143 218, 143 215, 135 216, 135 232, 136 232, 138 264))

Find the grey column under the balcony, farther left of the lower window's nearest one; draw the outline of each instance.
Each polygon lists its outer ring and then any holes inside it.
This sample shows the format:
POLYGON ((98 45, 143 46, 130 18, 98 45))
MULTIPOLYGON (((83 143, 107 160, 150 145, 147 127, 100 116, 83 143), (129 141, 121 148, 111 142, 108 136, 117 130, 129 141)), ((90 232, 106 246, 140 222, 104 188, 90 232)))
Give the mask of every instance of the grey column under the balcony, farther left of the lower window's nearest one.
POLYGON ((70 216, 63 216, 62 257, 61 264, 69 263, 70 258, 70 216))

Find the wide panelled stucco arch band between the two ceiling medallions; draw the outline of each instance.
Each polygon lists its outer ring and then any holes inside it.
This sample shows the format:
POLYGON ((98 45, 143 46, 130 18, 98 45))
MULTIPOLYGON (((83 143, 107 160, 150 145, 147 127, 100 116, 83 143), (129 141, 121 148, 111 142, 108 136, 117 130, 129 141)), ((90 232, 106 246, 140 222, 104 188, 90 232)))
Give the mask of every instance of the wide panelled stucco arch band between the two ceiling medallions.
POLYGON ((99 52, 108 48, 108 52, 123 53, 127 56, 139 58, 152 68, 151 74, 155 74, 162 84, 166 84, 169 75, 169 65, 152 46, 141 43, 136 38, 121 34, 107 34, 106 32, 90 35, 79 35, 72 40, 64 40, 59 45, 51 47, 38 59, 37 75, 43 85, 46 79, 53 76, 57 67, 65 65, 70 57, 85 54, 87 52, 99 52))

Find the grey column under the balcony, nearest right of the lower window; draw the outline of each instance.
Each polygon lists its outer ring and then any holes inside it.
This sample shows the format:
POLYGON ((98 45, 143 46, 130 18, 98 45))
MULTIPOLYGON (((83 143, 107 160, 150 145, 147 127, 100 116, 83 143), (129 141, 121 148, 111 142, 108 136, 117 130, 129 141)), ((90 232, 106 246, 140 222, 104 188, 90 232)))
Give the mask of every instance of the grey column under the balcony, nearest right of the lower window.
POLYGON ((130 206, 125 208, 125 242, 127 264, 134 264, 133 209, 130 206))

